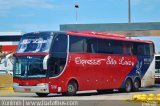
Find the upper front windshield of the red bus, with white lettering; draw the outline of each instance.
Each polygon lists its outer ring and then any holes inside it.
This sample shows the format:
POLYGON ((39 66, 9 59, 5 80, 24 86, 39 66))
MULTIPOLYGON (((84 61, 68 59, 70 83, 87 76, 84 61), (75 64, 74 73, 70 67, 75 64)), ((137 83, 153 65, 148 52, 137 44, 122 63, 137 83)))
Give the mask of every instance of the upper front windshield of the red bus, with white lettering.
POLYGON ((22 37, 17 53, 49 52, 53 36, 27 34, 22 37))

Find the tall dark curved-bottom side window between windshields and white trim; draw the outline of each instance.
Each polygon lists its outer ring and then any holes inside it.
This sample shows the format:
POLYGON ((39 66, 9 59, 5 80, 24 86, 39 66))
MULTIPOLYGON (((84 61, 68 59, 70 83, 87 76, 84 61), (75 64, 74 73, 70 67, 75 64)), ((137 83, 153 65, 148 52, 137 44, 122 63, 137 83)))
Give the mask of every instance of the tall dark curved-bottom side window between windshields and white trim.
POLYGON ((57 35, 51 49, 51 57, 49 58, 49 77, 59 75, 66 64, 67 59, 67 35, 57 35))

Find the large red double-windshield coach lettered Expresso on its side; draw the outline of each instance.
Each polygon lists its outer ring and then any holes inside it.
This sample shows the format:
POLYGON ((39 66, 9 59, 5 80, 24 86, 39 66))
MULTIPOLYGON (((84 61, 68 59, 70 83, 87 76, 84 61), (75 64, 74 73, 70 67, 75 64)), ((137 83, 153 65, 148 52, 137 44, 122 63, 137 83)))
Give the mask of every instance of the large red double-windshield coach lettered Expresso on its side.
POLYGON ((138 91, 155 83, 154 44, 92 31, 24 34, 14 54, 15 92, 138 91))

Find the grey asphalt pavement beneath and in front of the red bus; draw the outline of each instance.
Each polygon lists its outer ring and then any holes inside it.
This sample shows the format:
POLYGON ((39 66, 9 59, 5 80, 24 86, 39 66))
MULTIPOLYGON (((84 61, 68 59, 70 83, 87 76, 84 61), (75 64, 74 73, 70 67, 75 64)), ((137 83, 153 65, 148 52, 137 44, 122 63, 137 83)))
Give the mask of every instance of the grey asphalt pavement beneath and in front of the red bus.
MULTIPOLYGON (((61 94, 49 94, 47 97, 38 97, 34 93, 17 93, 13 90, 0 90, 0 100, 74 100, 80 101, 79 104, 84 104, 84 106, 142 106, 142 103, 128 102, 132 99, 135 94, 158 94, 160 93, 160 84, 156 84, 154 87, 150 88, 140 88, 138 92, 119 92, 115 90, 114 92, 98 94, 95 90, 93 91, 80 91, 76 96, 62 96, 61 94), (85 103, 84 103, 85 102, 85 103), (89 105, 89 104, 93 105, 89 105), (98 105, 95 105, 98 104, 98 105), (121 104, 121 105, 120 105, 121 104)), ((79 105, 78 105, 79 106, 79 105)), ((82 106, 82 105, 81 105, 82 106)), ((143 105, 145 106, 145 105, 143 105)), ((152 104, 152 106, 159 106, 159 104, 152 104)))

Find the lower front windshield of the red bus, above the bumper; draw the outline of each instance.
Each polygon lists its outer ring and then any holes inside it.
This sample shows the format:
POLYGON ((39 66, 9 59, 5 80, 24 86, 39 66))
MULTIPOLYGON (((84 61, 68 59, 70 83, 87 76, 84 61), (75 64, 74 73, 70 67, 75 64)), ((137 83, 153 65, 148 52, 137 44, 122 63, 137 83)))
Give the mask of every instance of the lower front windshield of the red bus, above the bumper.
POLYGON ((44 56, 22 56, 15 58, 14 76, 23 78, 46 77, 43 70, 44 56))

